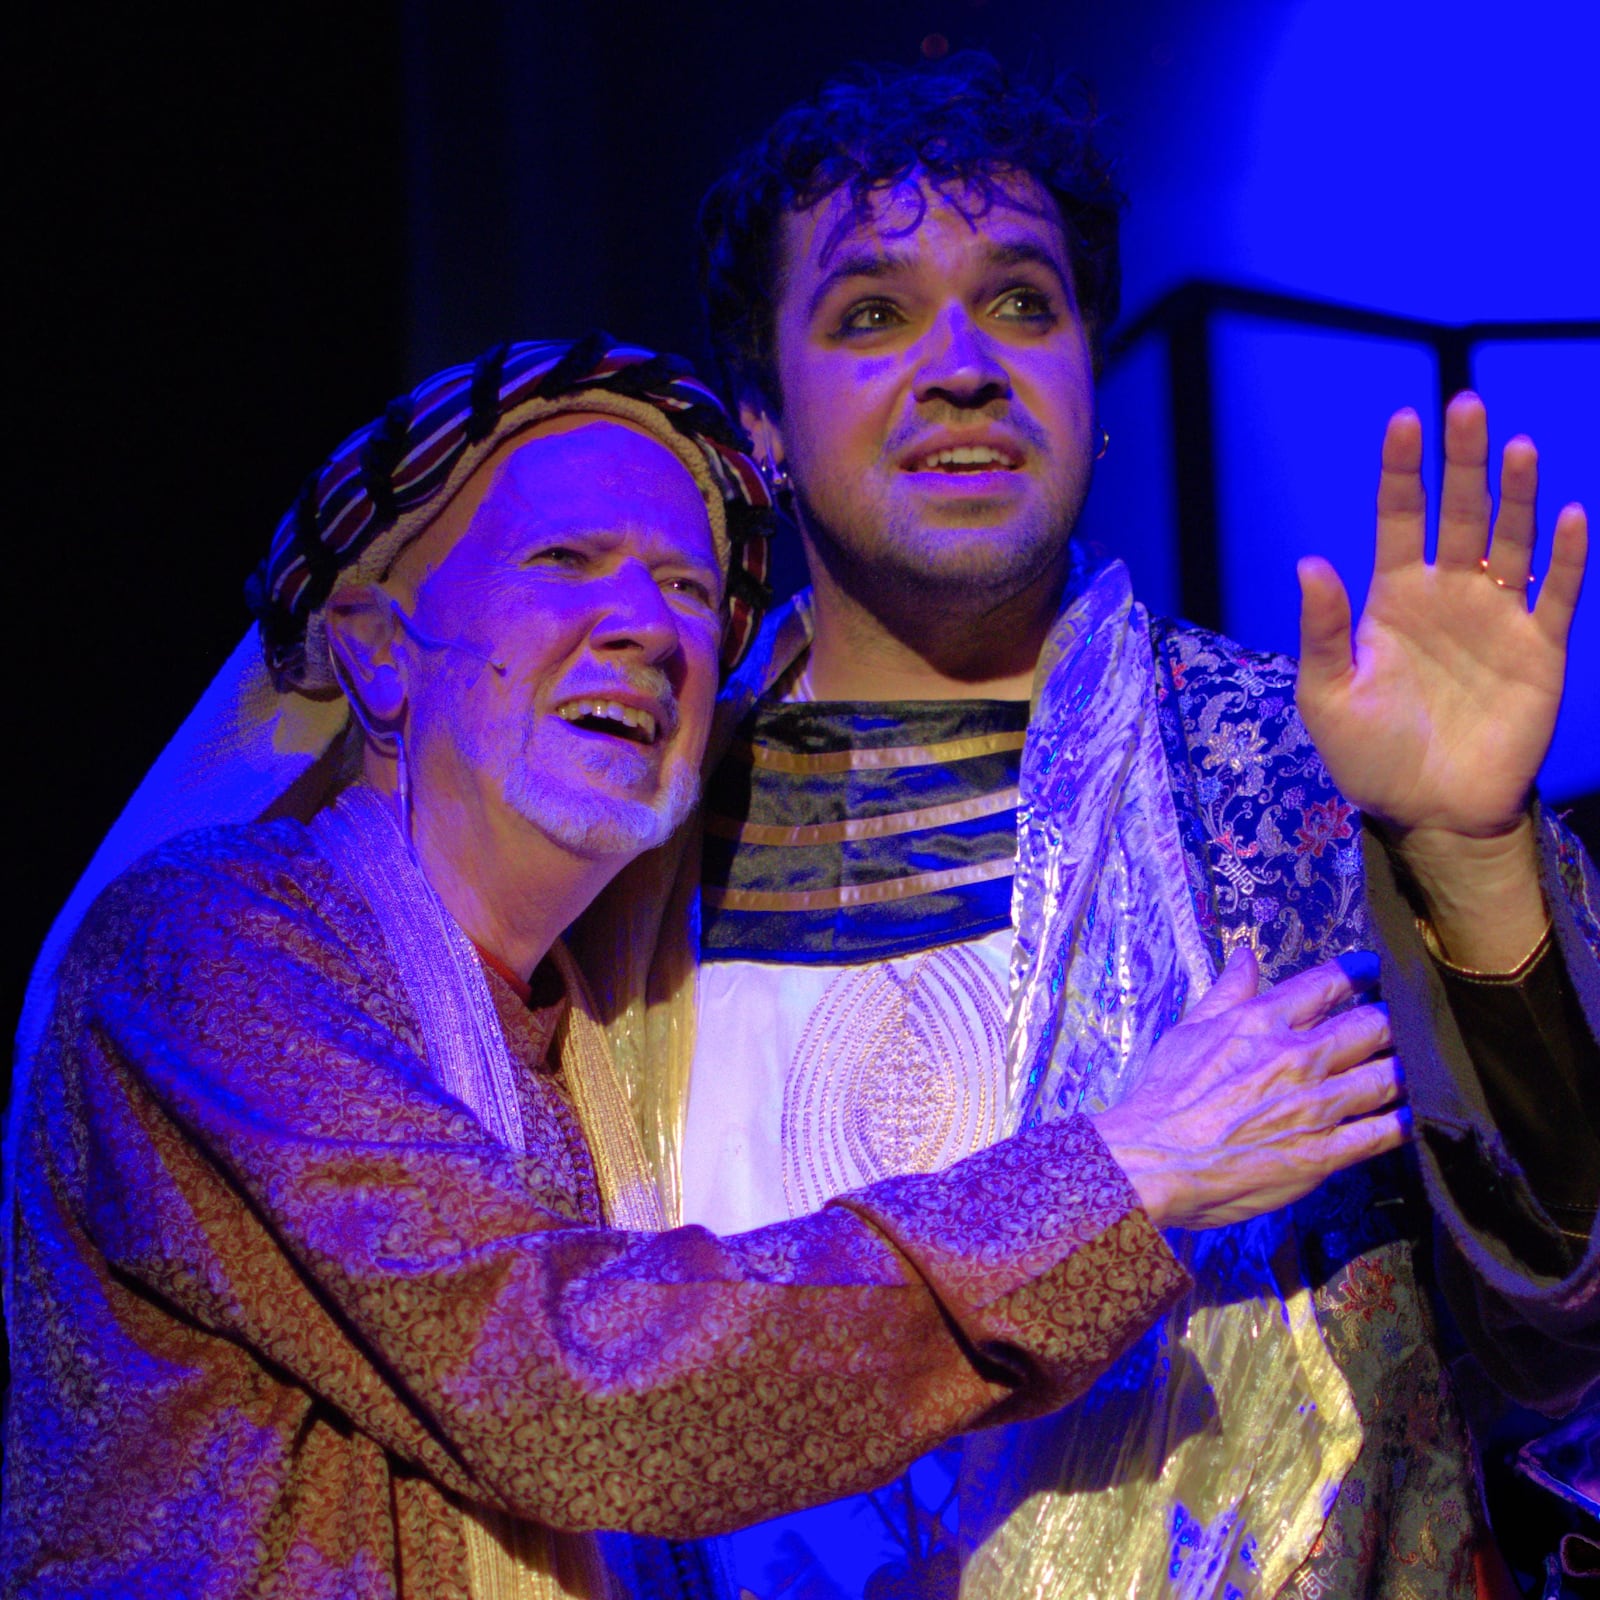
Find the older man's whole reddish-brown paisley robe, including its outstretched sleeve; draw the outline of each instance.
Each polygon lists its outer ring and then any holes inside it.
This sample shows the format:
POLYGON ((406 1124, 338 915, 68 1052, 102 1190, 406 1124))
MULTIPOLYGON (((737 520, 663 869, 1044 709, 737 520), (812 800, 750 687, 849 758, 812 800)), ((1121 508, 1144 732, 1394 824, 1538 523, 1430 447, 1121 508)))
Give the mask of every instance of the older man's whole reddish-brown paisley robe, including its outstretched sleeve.
POLYGON ((462 1502, 682 1539, 850 1493, 1184 1283, 1085 1118, 741 1238, 608 1229, 558 986, 490 986, 522 1155, 299 824, 101 896, 22 1128, 0 1590, 464 1600, 462 1502))

